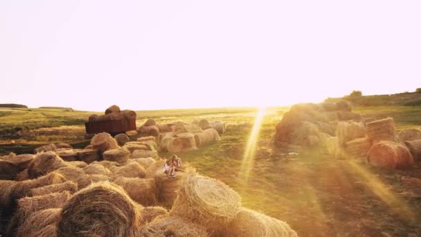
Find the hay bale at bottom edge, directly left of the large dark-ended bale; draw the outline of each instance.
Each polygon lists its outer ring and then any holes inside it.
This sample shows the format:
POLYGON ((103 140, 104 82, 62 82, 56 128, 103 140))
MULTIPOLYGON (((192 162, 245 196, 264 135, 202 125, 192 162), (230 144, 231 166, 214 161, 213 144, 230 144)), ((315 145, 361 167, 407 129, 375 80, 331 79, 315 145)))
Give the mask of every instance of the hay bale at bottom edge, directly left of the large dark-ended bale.
POLYGON ((62 209, 51 208, 31 214, 17 231, 17 237, 57 236, 57 223, 62 209))

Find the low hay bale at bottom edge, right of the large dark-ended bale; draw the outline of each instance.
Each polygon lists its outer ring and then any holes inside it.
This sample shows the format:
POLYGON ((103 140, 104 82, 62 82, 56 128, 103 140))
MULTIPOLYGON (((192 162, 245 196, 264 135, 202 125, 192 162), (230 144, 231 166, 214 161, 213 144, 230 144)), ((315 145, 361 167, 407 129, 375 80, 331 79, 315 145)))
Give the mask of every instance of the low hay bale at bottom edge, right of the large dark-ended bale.
POLYGON ((141 236, 145 237, 207 237, 209 234, 204 227, 183 220, 177 216, 156 218, 154 221, 143 227, 141 236))

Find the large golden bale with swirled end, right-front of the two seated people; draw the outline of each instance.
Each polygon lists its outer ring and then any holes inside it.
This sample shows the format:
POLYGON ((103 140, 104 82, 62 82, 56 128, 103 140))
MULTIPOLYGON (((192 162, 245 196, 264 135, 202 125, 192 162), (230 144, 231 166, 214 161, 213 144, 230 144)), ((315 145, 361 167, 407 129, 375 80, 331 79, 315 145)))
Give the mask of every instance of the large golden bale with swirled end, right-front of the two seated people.
POLYGON ((241 198, 222 182, 201 175, 187 175, 170 211, 180 216, 219 230, 240 212, 241 198))

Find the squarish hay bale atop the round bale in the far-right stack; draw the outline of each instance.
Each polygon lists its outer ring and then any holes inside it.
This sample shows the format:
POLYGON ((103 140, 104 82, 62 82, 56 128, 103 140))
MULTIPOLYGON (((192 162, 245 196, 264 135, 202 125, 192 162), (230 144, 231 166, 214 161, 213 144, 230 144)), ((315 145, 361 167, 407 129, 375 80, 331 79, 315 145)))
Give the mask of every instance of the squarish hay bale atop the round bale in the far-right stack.
POLYGON ((366 123, 367 137, 372 143, 377 141, 395 141, 395 125, 392 118, 379 119, 366 123))

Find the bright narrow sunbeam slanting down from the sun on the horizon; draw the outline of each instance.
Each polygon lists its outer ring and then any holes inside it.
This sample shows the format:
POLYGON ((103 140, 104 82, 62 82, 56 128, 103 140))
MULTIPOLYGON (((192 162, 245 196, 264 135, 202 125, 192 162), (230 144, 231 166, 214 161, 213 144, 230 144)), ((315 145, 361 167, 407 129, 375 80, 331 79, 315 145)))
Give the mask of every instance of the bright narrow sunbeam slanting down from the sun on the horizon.
POLYGON ((256 153, 256 146, 259 140, 260 128, 262 126, 263 118, 265 117, 266 107, 260 107, 256 119, 254 120, 253 129, 251 130, 249 140, 247 141, 246 150, 242 159, 240 177, 243 180, 249 179, 251 169, 254 164, 254 155, 256 153))

